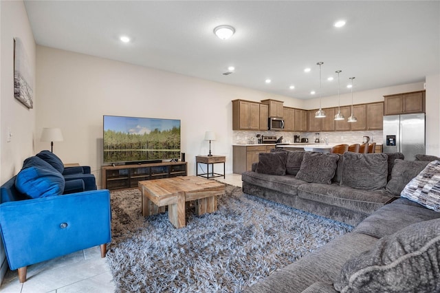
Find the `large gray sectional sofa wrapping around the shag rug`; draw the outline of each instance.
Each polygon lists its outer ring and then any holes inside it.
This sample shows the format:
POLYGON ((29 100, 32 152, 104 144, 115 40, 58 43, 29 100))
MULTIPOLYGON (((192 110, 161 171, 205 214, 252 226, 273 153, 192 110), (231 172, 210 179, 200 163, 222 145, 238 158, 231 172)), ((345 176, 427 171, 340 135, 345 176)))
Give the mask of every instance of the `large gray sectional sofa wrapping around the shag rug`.
POLYGON ((261 155, 253 171, 243 173, 245 193, 355 229, 246 292, 440 292, 439 158, 419 155, 422 161, 405 161, 400 153, 344 153, 336 159, 274 153, 261 155), (325 162, 317 169, 319 160, 325 162), (375 169, 378 166, 382 171, 375 169), (313 172, 301 174, 306 167, 313 172), (331 168, 336 175, 326 182, 331 168))

